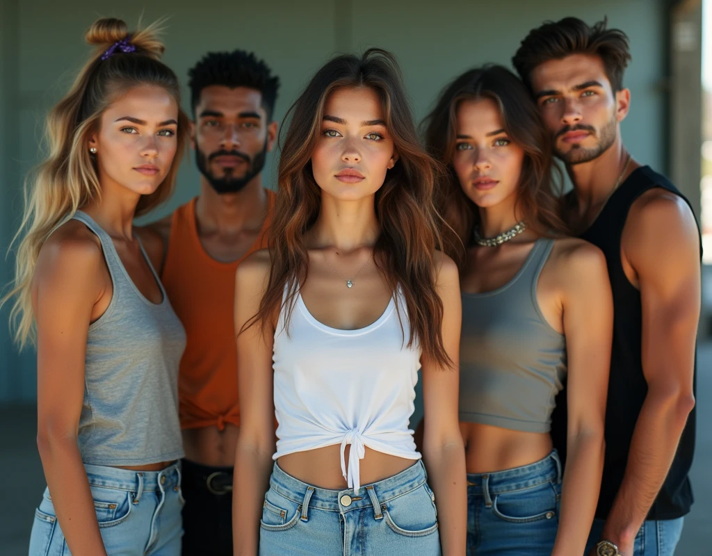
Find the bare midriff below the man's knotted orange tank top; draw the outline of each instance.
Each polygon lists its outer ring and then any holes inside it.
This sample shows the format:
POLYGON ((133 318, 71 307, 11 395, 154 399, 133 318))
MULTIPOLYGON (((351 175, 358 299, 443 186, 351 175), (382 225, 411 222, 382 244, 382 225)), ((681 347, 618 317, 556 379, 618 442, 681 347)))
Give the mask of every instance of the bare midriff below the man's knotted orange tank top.
POLYGON ((239 426, 226 423, 223 430, 217 426, 204 426, 200 429, 183 429, 182 433, 186 459, 204 466, 234 466, 239 426))

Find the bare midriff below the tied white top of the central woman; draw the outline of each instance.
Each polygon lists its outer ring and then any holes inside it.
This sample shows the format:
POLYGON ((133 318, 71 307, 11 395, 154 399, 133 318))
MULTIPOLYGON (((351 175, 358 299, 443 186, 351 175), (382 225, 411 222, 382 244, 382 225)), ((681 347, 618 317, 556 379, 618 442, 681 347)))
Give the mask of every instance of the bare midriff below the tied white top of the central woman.
MULTIPOLYGON (((344 453, 348 467, 351 446, 344 453)), ((417 460, 389 456, 366 447, 366 455, 360 461, 361 485, 366 486, 397 475, 414 465, 417 460)), ((289 453, 277 460, 282 471, 303 483, 340 491, 347 487, 341 473, 341 445, 325 446, 313 450, 289 453)))

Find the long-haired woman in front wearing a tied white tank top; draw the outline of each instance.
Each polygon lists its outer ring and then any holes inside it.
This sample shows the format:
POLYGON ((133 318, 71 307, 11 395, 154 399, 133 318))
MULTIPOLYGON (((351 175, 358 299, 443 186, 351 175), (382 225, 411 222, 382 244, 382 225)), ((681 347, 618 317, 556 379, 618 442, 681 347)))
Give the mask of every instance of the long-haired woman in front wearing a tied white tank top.
POLYGON ((457 268, 397 63, 334 58, 290 112, 269 248, 236 278, 235 552, 462 555, 457 268))

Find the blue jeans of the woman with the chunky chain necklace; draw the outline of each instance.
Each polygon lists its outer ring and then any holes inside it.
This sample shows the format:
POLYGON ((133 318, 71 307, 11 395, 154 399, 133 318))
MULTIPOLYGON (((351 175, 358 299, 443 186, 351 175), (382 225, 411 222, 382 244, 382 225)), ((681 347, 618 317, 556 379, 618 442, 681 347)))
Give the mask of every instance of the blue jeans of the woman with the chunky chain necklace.
POLYGON ((467 475, 468 556, 550 556, 559 526, 561 463, 467 475))

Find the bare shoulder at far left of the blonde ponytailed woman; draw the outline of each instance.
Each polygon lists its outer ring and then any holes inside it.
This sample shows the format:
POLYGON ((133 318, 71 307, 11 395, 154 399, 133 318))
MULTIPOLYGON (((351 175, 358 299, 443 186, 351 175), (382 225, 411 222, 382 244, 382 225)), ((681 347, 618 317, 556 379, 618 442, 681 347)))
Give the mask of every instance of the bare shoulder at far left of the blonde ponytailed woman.
POLYGON ((72 278, 70 283, 85 284, 98 276, 105 266, 99 238, 84 224, 70 220, 59 226, 42 246, 37 258, 35 278, 46 280, 72 278))

